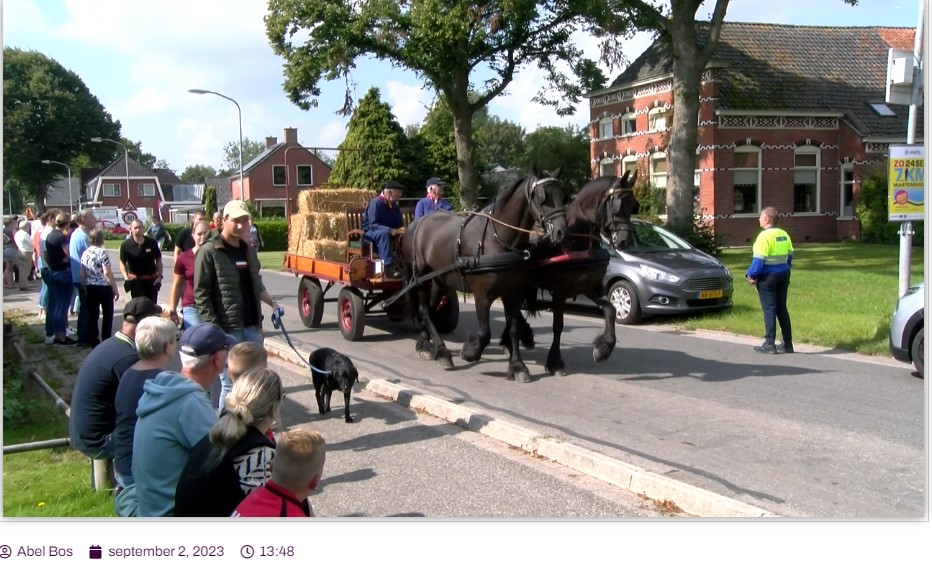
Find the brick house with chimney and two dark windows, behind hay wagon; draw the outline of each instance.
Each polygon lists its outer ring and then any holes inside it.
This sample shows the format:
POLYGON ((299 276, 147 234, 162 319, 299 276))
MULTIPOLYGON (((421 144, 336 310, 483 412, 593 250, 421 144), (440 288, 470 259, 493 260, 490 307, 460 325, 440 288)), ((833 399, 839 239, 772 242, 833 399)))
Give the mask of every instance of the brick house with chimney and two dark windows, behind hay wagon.
MULTIPOLYGON (((259 216, 286 215, 297 211, 298 192, 320 187, 330 178, 330 167, 298 143, 298 130, 285 128, 285 141, 265 138, 265 150, 243 164, 243 184, 238 172, 230 176, 231 195, 252 202, 259 216), (286 161, 287 160, 287 161, 286 161)), ((219 202, 218 197, 218 202, 219 202)))

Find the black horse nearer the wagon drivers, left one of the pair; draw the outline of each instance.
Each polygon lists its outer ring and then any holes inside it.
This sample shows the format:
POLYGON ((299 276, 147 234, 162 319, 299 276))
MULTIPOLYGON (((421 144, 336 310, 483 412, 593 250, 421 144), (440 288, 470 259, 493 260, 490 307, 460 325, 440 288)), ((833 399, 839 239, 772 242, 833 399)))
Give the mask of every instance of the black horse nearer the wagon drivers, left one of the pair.
POLYGON ((489 310, 501 298, 506 305, 510 348, 508 379, 530 380, 518 351, 518 320, 529 284, 527 247, 535 223, 543 227, 543 240, 559 244, 566 233, 563 187, 554 176, 538 170, 503 189, 492 205, 463 215, 434 212, 408 225, 401 241, 402 259, 415 292, 409 293, 415 321, 421 326, 417 350, 453 367, 432 319, 429 304, 437 297, 455 297, 456 290, 471 292, 479 322, 478 335, 463 344, 460 357, 479 360, 491 341, 489 310))

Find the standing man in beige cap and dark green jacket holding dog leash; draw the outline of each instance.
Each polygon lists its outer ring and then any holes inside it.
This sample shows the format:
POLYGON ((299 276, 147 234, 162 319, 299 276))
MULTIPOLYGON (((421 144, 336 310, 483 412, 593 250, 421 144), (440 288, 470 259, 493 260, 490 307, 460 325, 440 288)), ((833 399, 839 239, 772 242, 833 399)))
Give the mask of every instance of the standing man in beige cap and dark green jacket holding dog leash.
MULTIPOLYGON (((236 341, 263 345, 262 307, 278 309, 262 283, 259 258, 249 246, 249 209, 242 200, 223 207, 220 233, 211 237, 194 259, 194 305, 201 320, 220 326, 236 341)), ((226 371, 220 377, 218 408, 233 390, 226 371)))

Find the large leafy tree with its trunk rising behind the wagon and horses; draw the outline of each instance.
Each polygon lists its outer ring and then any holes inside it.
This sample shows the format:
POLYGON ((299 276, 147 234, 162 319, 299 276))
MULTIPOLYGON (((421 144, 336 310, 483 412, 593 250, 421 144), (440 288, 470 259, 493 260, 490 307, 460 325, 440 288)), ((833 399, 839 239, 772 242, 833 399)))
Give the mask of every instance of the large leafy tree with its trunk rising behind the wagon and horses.
POLYGON ((457 173, 464 207, 474 208, 477 170, 472 117, 504 92, 515 73, 548 74, 537 99, 571 112, 604 76, 572 42, 610 15, 608 0, 269 0, 266 34, 284 58, 284 90, 303 109, 317 105, 322 80, 347 81, 360 57, 410 69, 453 115, 457 173), (480 77, 481 74, 481 77, 480 77), (478 97, 471 99, 471 90, 478 97))

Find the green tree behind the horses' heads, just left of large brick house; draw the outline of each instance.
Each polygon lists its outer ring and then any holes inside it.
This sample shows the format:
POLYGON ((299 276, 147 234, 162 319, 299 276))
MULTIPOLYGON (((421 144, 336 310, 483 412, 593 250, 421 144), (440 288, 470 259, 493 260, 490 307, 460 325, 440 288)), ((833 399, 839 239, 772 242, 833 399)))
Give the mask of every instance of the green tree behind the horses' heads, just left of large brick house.
POLYGON ((560 168, 560 177, 572 192, 589 181, 589 130, 586 127, 547 126, 525 138, 526 150, 519 164, 526 170, 537 163, 546 169, 560 168))

